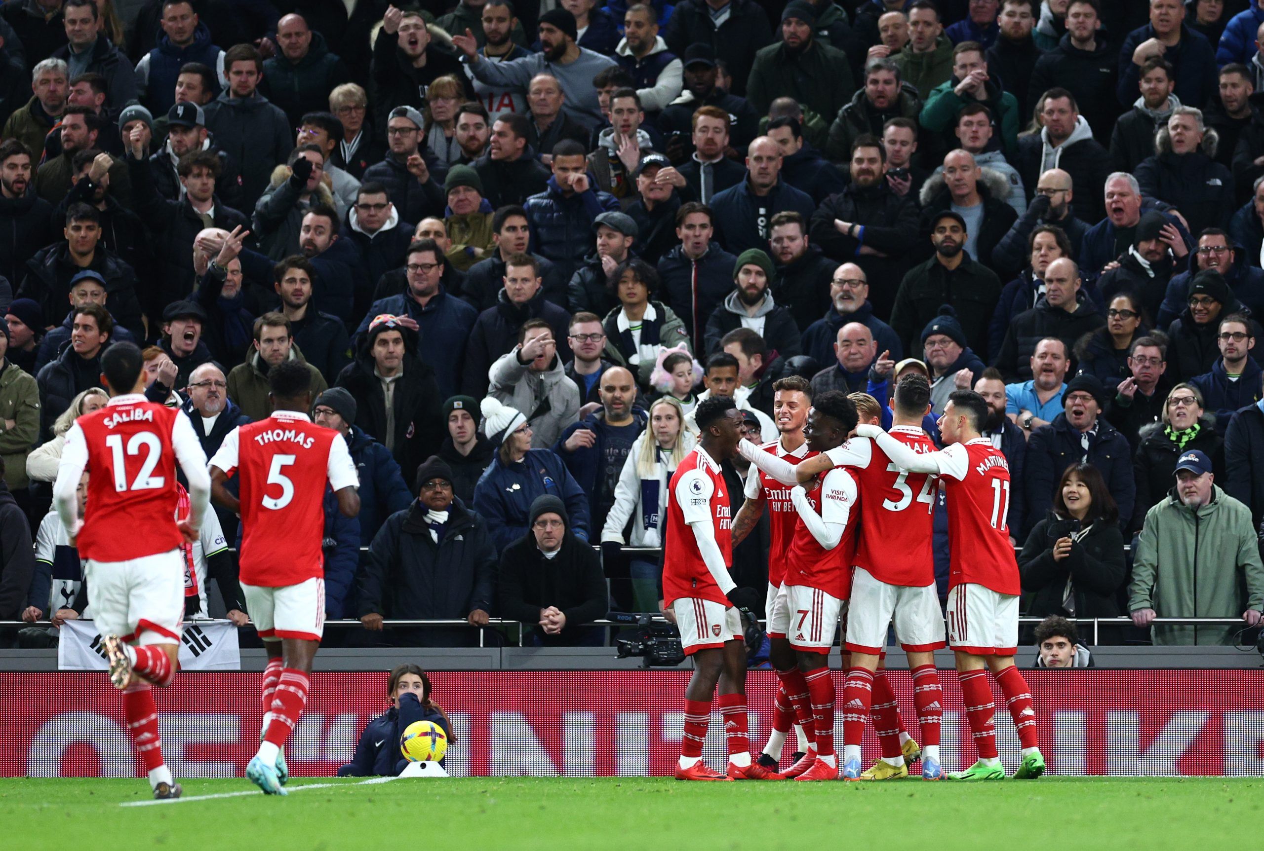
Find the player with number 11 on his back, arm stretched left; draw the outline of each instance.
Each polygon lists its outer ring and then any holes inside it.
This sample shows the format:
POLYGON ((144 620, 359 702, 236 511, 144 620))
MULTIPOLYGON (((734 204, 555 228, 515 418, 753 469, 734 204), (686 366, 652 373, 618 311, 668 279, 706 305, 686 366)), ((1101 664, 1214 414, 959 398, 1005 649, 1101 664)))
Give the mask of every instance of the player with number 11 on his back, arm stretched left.
POLYGON ((1009 514, 1010 468, 1005 455, 981 436, 987 403, 973 390, 956 390, 939 418, 947 444, 939 452, 915 452, 877 427, 858 433, 873 438, 889 458, 909 472, 938 473, 948 491, 948 644, 957 655, 962 699, 978 749, 978 761, 953 780, 1001 780, 992 730, 991 669, 1023 746, 1023 764, 1014 774, 1033 779, 1044 773, 1035 726, 1035 708, 1023 673, 1014 665, 1019 643, 1019 567, 1005 525, 1009 514))

